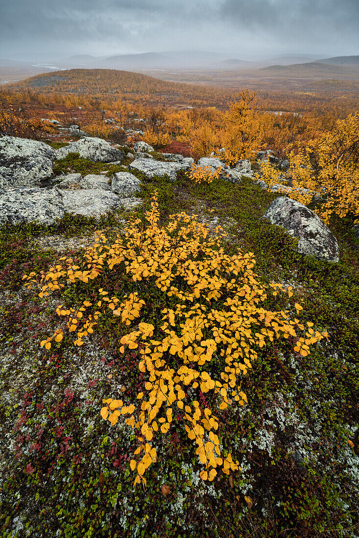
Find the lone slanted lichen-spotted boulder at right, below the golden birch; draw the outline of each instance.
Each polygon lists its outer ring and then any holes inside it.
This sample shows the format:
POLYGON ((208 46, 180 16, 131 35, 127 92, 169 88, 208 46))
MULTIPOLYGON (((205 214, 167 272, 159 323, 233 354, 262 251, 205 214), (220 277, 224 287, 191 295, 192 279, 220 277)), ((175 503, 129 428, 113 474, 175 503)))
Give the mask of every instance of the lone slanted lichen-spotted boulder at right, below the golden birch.
POLYGON ((297 250, 301 254, 339 261, 339 247, 333 233, 303 204, 280 196, 270 204, 264 218, 272 224, 283 226, 292 236, 298 237, 297 250))

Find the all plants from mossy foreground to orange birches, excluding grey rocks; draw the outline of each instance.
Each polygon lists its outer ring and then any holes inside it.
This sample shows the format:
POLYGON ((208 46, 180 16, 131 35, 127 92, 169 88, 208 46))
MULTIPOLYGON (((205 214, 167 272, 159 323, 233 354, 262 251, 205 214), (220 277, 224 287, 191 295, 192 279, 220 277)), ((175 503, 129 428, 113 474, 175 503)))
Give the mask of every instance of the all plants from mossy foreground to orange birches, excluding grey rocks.
POLYGON ((293 185, 328 189, 305 202, 339 263, 261 218, 278 193, 196 165, 176 182, 133 171, 130 215, 0 230, 2 536, 359 535, 357 115, 274 116, 256 97, 123 104, 123 128, 143 118, 170 140, 156 150, 230 166, 272 148, 293 185))

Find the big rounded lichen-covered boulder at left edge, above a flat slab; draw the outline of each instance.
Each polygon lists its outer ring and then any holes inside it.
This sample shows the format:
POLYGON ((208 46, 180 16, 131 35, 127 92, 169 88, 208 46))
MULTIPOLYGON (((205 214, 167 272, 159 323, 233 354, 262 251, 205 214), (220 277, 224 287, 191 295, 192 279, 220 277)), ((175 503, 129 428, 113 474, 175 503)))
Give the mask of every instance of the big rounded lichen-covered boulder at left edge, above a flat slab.
POLYGON ((38 187, 53 177, 56 151, 37 140, 0 138, 0 188, 38 187))

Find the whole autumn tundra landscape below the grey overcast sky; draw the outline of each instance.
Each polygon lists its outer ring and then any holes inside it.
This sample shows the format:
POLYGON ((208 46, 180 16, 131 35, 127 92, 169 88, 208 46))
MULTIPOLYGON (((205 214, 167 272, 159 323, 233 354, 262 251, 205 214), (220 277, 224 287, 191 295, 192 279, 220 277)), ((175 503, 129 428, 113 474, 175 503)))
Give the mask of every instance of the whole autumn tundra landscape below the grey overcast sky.
POLYGON ((11 58, 0 536, 357 538, 359 56, 11 58))

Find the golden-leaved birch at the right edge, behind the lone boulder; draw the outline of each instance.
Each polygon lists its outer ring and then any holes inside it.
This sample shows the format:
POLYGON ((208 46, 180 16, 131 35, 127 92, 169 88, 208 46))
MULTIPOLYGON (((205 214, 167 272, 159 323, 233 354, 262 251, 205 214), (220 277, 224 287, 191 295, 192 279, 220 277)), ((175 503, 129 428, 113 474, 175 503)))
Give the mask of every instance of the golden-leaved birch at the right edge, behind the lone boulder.
MULTIPOLYGON (((358 112, 337 121, 332 129, 307 143, 289 145, 287 154, 290 167, 286 176, 294 187, 289 197, 308 204, 313 196, 324 196, 316 211, 326 223, 333 214, 359 217, 358 112)), ((270 162, 261 165, 261 172, 261 179, 268 185, 282 183, 281 172, 270 162)))

